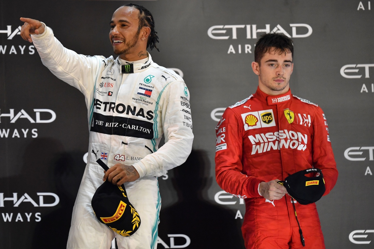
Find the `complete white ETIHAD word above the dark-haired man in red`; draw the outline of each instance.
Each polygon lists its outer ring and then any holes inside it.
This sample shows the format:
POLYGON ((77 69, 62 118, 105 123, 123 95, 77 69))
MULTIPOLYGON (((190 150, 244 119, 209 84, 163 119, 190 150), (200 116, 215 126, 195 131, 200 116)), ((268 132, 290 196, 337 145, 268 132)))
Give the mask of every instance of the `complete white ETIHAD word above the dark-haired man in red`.
MULTIPOLYGON (((289 24, 289 26, 292 28, 292 38, 304 38, 308 37, 312 34, 313 29, 308 24, 289 24), (297 28, 303 29, 302 31, 297 31, 297 28), (307 30, 307 32, 305 32, 307 30)), ((247 39, 257 39, 257 33, 282 33, 286 36, 291 38, 291 35, 282 28, 281 25, 276 25, 271 31, 270 31, 270 24, 265 24, 265 28, 263 29, 257 29, 256 24, 247 24, 247 25, 214 25, 208 29, 208 36, 215 40, 225 40, 229 39, 230 35, 216 35, 216 34, 226 34, 228 29, 232 29, 232 39, 237 39, 237 29, 238 28, 246 28, 246 38, 247 39)))

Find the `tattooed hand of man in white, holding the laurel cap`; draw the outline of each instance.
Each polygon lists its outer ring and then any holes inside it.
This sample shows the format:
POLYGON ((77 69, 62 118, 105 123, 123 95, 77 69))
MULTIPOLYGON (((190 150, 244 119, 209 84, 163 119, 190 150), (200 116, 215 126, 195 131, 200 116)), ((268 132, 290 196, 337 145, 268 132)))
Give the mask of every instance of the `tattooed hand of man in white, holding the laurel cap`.
POLYGON ((123 183, 129 181, 136 181, 139 179, 139 173, 134 168, 134 166, 116 164, 104 171, 105 175, 102 178, 103 181, 107 180, 113 183, 114 185, 121 186, 123 183))

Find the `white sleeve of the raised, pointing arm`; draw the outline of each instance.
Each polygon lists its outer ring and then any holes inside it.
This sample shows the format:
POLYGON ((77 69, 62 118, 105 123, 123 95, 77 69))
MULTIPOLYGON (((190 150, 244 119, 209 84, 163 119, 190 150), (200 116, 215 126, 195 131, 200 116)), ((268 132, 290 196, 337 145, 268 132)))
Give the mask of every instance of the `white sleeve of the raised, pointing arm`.
POLYGON ((31 35, 31 38, 43 65, 52 74, 78 88, 85 96, 92 92, 100 65, 100 57, 78 55, 76 52, 66 49, 53 35, 52 29, 46 25, 43 34, 31 35))

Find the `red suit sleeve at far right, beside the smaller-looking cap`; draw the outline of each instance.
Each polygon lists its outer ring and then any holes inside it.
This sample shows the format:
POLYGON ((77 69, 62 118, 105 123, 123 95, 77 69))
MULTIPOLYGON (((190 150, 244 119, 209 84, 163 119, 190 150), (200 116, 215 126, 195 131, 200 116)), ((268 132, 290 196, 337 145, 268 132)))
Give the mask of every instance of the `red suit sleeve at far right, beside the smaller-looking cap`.
POLYGON ((332 152, 328 126, 325 114, 320 107, 317 108, 313 118, 313 167, 322 170, 324 175, 325 194, 328 194, 338 179, 338 170, 332 152))

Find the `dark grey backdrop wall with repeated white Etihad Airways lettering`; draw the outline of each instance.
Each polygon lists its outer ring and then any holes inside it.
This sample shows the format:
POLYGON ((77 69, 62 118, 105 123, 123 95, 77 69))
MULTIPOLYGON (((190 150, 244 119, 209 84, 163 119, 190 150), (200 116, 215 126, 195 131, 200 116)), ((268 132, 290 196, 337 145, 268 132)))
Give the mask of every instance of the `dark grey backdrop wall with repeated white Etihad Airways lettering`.
MULTIPOLYGON (((45 22, 68 49, 108 57, 111 15, 129 2, 0 1, 0 248, 65 248, 88 148, 83 95, 42 65, 18 34, 19 17, 45 22)), ((292 93, 327 116, 340 173, 317 203, 327 248, 372 247, 370 1, 133 2, 156 21, 154 61, 183 74, 191 94, 193 152, 159 178, 159 248, 243 248, 243 201, 215 182, 214 127, 225 107, 257 87, 250 63, 258 29, 293 38, 292 93)))

